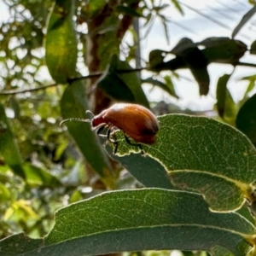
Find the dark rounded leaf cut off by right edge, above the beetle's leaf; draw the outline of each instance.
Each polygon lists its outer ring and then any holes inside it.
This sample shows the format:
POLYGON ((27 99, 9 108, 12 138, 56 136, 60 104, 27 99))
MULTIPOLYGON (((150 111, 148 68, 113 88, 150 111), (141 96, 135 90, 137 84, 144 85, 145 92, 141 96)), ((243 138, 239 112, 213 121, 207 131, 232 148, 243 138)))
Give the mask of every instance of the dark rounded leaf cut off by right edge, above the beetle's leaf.
POLYGON ((236 127, 256 144, 256 94, 245 102, 236 117, 236 127))

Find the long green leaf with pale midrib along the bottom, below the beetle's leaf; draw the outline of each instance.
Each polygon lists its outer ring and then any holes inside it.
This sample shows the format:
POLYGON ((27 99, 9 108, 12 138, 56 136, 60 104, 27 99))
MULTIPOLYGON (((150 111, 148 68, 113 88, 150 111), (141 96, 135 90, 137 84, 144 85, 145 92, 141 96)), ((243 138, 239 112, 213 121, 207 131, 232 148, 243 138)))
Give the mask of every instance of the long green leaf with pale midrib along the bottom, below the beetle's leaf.
MULTIPOLYGON (((216 246, 242 256, 251 248, 248 241, 253 233, 253 224, 236 212, 209 212, 201 195, 166 189, 123 190, 62 208, 56 212, 55 226, 44 244, 22 256, 151 249, 211 251, 216 246)), ((22 241, 23 247, 27 243, 22 241)), ((3 245, 0 241, 6 250, 3 245)))

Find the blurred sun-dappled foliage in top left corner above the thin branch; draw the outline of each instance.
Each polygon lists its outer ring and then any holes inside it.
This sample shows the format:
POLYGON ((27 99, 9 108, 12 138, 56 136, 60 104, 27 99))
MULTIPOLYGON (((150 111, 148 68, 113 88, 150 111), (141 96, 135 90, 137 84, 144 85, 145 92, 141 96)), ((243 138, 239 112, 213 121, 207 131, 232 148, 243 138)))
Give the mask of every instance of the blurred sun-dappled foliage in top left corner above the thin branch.
POLYGON ((44 56, 39 48, 43 44, 43 28, 52 3, 53 0, 40 0, 37 3, 9 1, 9 9, 15 15, 0 27, 0 49, 4 56, 1 59, 1 86, 6 90, 42 84, 38 71, 44 65, 44 56), (25 10, 34 19, 29 19, 25 10))

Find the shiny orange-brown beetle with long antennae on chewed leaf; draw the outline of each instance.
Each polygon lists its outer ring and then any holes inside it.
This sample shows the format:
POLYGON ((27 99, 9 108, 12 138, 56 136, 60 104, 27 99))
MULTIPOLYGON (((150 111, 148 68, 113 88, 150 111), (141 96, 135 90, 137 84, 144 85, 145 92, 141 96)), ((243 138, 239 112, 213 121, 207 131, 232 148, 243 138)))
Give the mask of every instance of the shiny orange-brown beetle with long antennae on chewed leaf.
MULTIPOLYGON (((91 113, 86 111, 86 113, 91 113)), ((115 145, 113 154, 116 154, 118 149, 118 143, 111 138, 111 131, 115 128, 124 132, 125 141, 133 146, 137 146, 141 149, 142 154, 143 147, 141 143, 154 144, 156 141, 156 134, 159 131, 159 123, 154 113, 148 108, 144 108, 138 104, 131 103, 116 103, 110 108, 103 110, 96 116, 92 114, 92 119, 64 119, 61 121, 61 125, 66 121, 82 121, 90 122, 92 130, 96 130, 96 133, 101 137, 107 137, 108 141, 115 145), (108 127, 107 135, 102 135, 100 132, 108 127), (131 143, 129 137, 131 137, 136 143, 131 143)))

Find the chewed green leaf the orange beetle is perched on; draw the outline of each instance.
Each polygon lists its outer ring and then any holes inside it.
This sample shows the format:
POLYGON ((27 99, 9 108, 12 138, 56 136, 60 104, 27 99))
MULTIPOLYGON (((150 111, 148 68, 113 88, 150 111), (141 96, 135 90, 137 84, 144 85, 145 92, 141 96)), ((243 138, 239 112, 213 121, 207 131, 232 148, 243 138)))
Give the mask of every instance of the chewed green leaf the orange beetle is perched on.
MULTIPOLYGON (((256 180, 256 150, 240 131, 213 119, 181 114, 160 116, 154 145, 143 144, 169 172, 178 187, 204 195, 212 210, 235 210, 250 198, 256 180), (195 182, 196 181, 196 182, 195 182), (218 186, 216 184, 218 183, 218 186)), ((119 156, 139 152, 125 143, 122 132, 119 156)))

